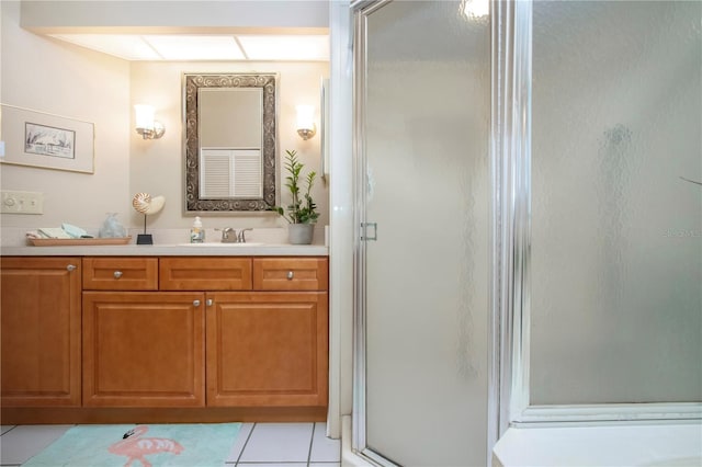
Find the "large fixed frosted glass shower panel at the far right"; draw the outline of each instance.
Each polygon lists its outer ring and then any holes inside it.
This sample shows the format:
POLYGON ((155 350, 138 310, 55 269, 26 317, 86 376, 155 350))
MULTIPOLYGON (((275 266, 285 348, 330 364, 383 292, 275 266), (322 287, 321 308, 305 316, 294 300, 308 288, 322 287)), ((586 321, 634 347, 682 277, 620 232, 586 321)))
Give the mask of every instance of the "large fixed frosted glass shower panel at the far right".
POLYGON ((531 403, 702 400, 702 3, 534 3, 531 403))

